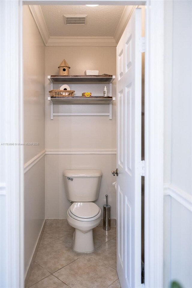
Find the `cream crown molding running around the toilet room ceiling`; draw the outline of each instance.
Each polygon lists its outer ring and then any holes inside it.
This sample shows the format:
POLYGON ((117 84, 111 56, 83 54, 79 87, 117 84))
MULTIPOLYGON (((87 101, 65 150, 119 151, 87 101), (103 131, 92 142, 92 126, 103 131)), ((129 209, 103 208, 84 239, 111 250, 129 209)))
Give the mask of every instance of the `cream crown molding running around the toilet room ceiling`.
POLYGON ((134 7, 125 6, 114 37, 51 37, 41 11, 41 6, 29 5, 45 46, 117 46, 134 7))

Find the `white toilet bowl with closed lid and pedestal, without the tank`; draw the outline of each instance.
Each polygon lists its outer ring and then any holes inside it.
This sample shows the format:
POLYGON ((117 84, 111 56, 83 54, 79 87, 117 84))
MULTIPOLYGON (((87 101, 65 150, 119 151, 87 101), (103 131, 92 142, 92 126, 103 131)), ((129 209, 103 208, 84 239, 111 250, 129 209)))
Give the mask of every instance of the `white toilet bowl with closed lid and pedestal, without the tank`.
POLYGON ((93 252, 93 228, 101 222, 101 209, 92 202, 74 202, 67 211, 67 222, 75 228, 73 250, 79 253, 93 252))

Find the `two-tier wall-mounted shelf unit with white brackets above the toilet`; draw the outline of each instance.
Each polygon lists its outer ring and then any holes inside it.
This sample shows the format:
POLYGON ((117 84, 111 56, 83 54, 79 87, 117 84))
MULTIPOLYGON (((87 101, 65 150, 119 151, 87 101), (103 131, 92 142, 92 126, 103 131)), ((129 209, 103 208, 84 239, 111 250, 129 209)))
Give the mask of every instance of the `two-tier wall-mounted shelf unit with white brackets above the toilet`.
POLYGON ((50 88, 53 89, 53 84, 73 83, 73 84, 109 84, 109 97, 71 97, 71 98, 52 98, 48 97, 51 109, 51 119, 53 116, 109 116, 112 119, 112 102, 115 98, 112 98, 112 82, 115 79, 113 75, 73 75, 73 76, 59 76, 52 75, 47 76, 50 82, 50 88), (53 104, 64 105, 80 105, 80 104, 104 104, 109 105, 108 113, 53 113, 53 104))

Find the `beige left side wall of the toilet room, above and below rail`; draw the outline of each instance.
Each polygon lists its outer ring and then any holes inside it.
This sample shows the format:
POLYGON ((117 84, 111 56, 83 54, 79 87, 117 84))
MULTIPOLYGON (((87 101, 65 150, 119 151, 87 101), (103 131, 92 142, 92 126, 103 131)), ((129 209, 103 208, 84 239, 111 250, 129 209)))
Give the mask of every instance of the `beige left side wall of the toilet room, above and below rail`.
MULTIPOLYGON (((25 163, 45 149, 45 47, 28 6, 23 6, 25 163)), ((25 173, 25 273, 45 218, 45 159, 25 173)))

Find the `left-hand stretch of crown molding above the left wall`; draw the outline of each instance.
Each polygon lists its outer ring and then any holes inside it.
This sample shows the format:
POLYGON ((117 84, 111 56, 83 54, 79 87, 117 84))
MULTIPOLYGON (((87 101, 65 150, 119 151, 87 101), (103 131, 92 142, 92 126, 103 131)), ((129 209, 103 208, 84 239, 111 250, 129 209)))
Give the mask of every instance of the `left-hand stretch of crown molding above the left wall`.
POLYGON ((44 41, 44 44, 46 45, 49 41, 49 32, 45 23, 45 19, 43 16, 43 13, 41 11, 40 5, 29 5, 29 9, 32 13, 33 19, 35 20, 35 23, 39 29, 39 32, 41 34, 41 37, 44 41))

